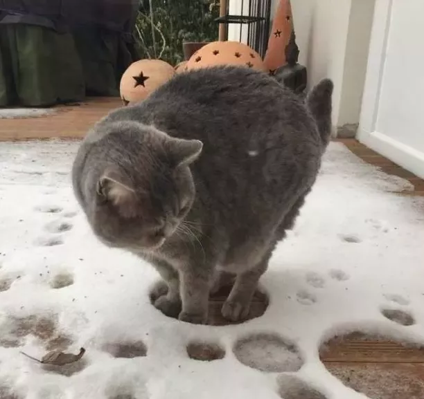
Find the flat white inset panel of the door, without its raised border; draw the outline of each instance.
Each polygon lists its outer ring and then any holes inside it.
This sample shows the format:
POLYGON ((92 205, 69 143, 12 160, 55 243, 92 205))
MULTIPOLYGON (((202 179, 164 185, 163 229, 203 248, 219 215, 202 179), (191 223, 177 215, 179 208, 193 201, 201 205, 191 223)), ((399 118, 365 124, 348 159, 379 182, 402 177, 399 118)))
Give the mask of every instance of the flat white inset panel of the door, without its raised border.
POLYGON ((424 1, 395 1, 376 130, 424 153, 424 1))

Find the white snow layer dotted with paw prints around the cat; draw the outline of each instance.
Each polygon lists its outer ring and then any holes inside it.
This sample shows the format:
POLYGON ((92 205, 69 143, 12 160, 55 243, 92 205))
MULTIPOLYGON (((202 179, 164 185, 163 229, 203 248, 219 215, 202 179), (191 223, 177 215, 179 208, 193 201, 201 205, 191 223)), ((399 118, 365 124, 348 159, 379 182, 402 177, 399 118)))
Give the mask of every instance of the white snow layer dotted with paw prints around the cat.
POLYGON ((292 399, 300 385, 364 399, 319 362, 322 342, 361 330, 424 344, 424 201, 389 193, 410 189, 405 180, 331 144, 263 277, 265 315, 193 326, 150 305, 148 264, 94 238, 69 182, 76 146, 0 143, 0 398, 292 399), (199 342, 224 357, 189 358, 199 342), (87 353, 63 368, 20 353, 55 347, 87 353))

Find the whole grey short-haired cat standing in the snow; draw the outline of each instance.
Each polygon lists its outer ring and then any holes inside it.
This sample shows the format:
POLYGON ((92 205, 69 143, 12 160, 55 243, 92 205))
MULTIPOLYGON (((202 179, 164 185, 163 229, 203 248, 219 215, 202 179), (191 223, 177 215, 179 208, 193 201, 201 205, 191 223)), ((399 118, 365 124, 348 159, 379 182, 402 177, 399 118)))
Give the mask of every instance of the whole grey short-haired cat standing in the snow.
POLYGON ((247 317, 258 280, 315 182, 330 140, 333 83, 299 100, 272 77, 215 67, 177 75, 89 131, 73 187, 106 245, 150 261, 166 315, 203 324, 223 277, 222 315, 247 317))

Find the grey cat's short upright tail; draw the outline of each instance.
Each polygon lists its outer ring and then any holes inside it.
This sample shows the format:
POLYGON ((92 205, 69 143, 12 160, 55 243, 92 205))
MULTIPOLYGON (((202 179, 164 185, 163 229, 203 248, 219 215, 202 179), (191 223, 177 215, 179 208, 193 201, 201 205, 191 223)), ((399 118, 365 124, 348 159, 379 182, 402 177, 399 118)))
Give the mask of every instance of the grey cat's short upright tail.
POLYGON ((323 79, 308 93, 306 98, 306 105, 317 122, 319 136, 321 136, 324 147, 328 145, 331 137, 333 88, 334 85, 330 79, 323 79))

